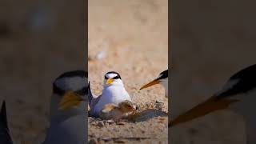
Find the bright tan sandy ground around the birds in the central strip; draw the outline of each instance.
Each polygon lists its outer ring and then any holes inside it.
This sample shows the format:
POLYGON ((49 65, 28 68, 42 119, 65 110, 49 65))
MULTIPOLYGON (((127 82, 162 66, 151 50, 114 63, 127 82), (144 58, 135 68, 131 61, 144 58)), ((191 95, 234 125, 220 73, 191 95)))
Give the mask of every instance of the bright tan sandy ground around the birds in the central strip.
MULTIPOLYGON (((159 101, 164 106, 156 113, 168 111, 162 86, 138 90, 168 67, 166 3, 89 1, 88 70, 95 94, 101 94, 103 75, 114 70, 121 75, 126 90, 138 106, 156 109, 155 102, 159 101)), ((167 136, 167 115, 121 124, 89 118, 90 142, 111 143, 115 140, 109 138, 126 138, 124 141, 128 143, 167 143, 167 136)))

